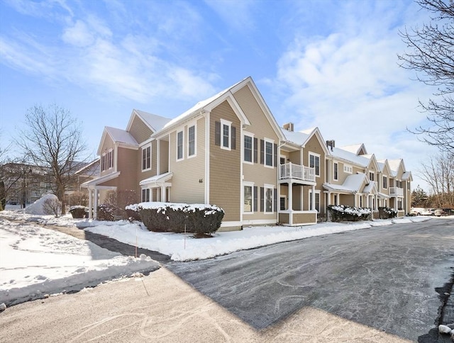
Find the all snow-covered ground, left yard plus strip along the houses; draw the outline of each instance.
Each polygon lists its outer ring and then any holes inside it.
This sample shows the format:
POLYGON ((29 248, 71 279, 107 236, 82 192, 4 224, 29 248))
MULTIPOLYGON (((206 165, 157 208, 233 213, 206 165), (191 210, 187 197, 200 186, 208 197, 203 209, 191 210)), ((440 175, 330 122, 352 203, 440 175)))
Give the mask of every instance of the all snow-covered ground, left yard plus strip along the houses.
POLYGON ((337 232, 412 223, 430 217, 409 217, 358 223, 322 223, 305 227, 245 227, 216 232, 213 238, 194 239, 190 234, 149 232, 140 223, 126 220, 101 222, 75 220, 70 215, 0 212, 0 303, 12 305, 47 294, 76 291, 103 281, 158 268, 149 257, 124 257, 92 242, 49 230, 42 225, 84 227, 120 242, 167 254, 175 261, 208 259, 243 249, 337 232), (3 219, 21 220, 22 223, 3 219))

